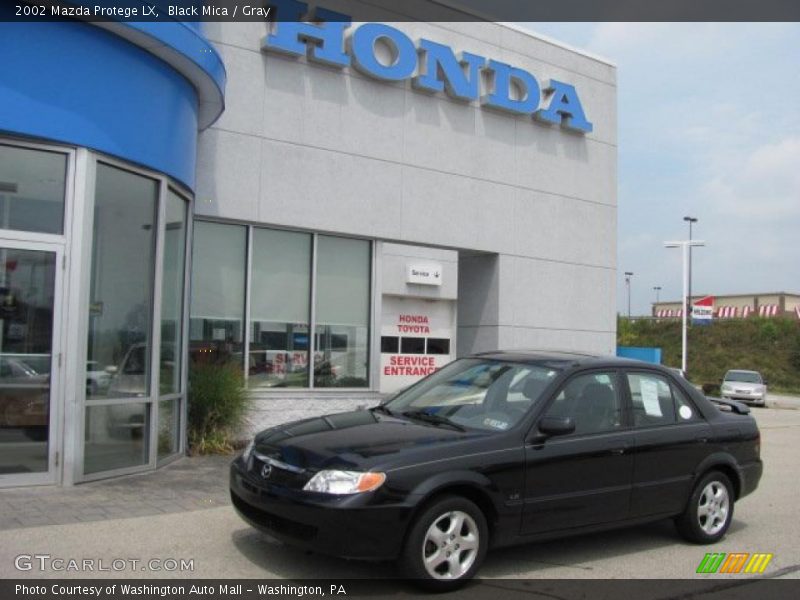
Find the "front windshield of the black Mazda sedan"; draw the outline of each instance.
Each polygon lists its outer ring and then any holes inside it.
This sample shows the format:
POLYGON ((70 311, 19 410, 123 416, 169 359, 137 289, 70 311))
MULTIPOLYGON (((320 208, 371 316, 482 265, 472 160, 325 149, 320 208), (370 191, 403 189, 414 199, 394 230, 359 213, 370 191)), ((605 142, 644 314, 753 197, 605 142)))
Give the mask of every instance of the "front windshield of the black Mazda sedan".
POLYGON ((450 363, 400 392, 385 407, 394 414, 460 427, 505 431, 541 398, 558 373, 541 365, 468 358, 450 363))

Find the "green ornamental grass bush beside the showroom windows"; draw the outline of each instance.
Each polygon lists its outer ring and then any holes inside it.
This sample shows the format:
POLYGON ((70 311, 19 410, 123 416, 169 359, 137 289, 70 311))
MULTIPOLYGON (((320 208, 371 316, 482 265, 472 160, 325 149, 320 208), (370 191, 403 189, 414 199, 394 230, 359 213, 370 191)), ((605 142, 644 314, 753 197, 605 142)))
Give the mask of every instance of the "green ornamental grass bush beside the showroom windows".
POLYGON ((189 450, 192 454, 233 452, 250 400, 241 365, 195 363, 189 369, 189 450))

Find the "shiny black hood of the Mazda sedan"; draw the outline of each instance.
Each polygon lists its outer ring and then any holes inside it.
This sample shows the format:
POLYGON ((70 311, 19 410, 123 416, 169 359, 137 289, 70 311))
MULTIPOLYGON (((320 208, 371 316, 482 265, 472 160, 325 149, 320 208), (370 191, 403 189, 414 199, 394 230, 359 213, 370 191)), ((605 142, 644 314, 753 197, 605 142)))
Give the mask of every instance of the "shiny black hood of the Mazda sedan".
POLYGON ((314 472, 369 470, 427 459, 447 448, 490 435, 393 417, 371 410, 326 415, 273 427, 256 436, 257 454, 314 472))

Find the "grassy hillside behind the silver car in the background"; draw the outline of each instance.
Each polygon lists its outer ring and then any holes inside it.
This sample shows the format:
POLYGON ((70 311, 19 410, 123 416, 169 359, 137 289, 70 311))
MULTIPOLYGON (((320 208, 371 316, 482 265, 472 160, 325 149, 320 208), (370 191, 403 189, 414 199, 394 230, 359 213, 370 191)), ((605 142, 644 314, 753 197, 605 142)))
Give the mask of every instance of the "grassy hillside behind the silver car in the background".
MULTIPOLYGON (((680 320, 617 323, 620 346, 656 346, 662 362, 681 365, 680 320)), ((800 393, 800 322, 787 318, 715 320, 688 333, 688 377, 697 384, 718 383, 728 369, 761 371, 775 392, 800 393)))

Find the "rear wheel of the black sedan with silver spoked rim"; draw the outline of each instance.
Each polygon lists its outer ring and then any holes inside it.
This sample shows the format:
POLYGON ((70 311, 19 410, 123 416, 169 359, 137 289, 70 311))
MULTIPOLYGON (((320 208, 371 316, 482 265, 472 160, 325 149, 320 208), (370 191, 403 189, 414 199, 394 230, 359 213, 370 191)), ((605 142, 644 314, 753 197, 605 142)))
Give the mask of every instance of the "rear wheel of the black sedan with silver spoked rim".
POLYGON ((734 491, 731 480, 720 471, 704 475, 694 486, 675 525, 685 539, 695 544, 713 544, 728 531, 733 519, 734 491))

